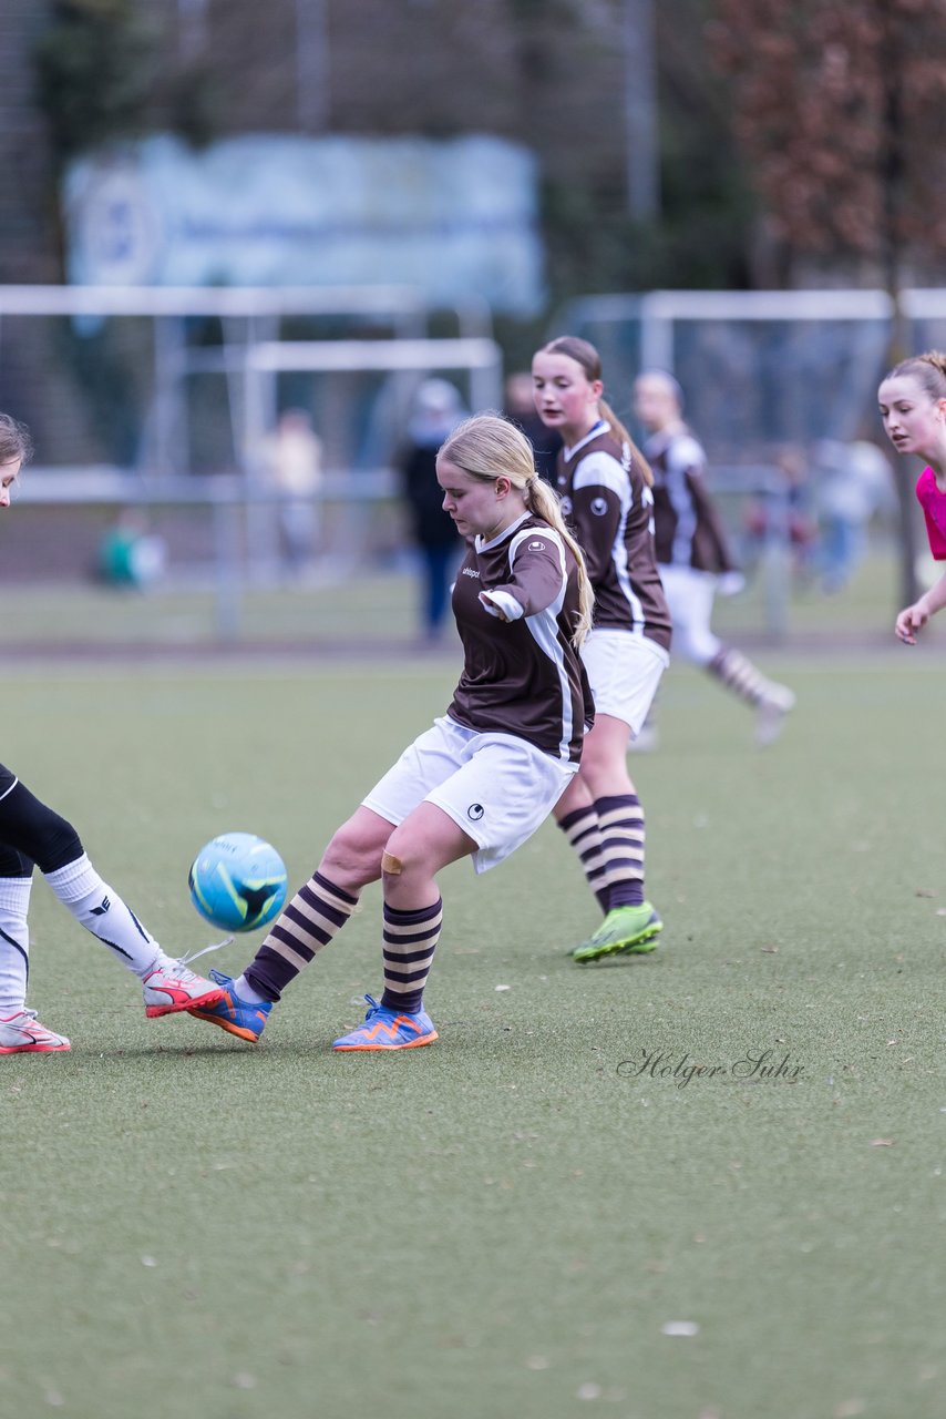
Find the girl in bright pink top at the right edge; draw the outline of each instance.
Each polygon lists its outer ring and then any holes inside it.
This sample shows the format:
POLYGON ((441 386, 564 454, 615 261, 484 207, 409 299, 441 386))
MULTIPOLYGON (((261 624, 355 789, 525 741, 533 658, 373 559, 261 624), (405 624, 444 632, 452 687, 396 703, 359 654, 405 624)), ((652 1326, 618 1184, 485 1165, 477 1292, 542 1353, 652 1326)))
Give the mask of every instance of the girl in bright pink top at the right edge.
MULTIPOLYGON (((929 549, 946 561, 946 355, 928 350, 895 365, 878 390, 884 430, 898 453, 916 454, 926 467, 916 498, 926 519, 929 549)), ((946 572, 896 617, 896 636, 916 644, 916 631, 946 606, 946 572)))

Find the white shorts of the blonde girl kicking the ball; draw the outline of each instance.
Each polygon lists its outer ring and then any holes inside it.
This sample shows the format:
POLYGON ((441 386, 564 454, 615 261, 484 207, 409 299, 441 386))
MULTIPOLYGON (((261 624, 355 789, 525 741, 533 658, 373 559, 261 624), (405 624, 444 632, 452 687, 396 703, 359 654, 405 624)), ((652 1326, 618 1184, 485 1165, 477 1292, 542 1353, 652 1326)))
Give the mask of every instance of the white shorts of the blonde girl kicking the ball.
POLYGON ((477 734, 443 715, 404 749, 363 806, 397 826, 418 803, 435 803, 477 843, 472 864, 485 873, 532 837, 577 768, 512 734, 477 734))

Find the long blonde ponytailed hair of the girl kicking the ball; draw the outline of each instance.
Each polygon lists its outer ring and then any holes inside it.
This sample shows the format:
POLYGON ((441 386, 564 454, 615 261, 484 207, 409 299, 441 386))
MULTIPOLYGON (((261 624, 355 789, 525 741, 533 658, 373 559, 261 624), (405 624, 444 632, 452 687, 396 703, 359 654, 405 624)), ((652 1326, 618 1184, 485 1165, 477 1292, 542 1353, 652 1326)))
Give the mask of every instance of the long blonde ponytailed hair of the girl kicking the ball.
POLYGON ((591 629, 594 592, 584 566, 581 548, 574 541, 564 518, 559 495, 536 473, 532 444, 515 424, 502 414, 474 414, 457 424, 441 444, 438 458, 447 458, 471 478, 494 482, 499 477, 509 478, 513 488, 522 492, 525 505, 559 534, 579 565, 579 619, 572 634, 577 648, 591 629))

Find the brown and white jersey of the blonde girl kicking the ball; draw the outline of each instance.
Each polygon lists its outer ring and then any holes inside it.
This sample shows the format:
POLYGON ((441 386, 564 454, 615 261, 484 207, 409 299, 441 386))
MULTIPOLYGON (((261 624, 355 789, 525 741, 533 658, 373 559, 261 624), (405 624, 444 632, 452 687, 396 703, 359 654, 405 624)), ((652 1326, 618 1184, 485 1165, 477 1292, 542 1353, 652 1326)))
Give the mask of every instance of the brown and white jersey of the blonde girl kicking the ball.
POLYGON ((513 734, 577 763, 594 717, 570 639, 577 614, 577 563, 546 522, 525 512, 491 542, 477 538, 454 586, 464 671, 447 714, 478 734, 513 734), (491 593, 492 609, 481 592, 491 593))

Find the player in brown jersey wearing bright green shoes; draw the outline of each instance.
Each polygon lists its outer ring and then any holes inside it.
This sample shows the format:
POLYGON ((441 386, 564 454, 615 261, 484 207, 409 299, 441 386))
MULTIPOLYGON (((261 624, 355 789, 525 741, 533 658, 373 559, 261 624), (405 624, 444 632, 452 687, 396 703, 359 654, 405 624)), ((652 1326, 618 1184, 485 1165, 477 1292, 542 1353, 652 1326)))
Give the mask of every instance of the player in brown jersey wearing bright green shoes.
POLYGON ((644 810, 627 772, 669 661, 671 622, 654 556, 651 473, 604 402, 601 360, 563 336, 532 360, 536 409, 564 447, 557 487, 594 587, 594 622, 581 647, 594 695, 581 771, 555 810, 601 908, 576 961, 652 951, 662 922, 644 900, 644 810))

